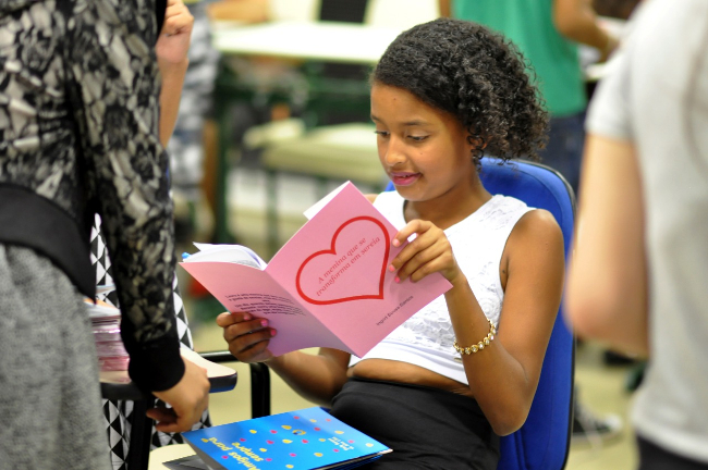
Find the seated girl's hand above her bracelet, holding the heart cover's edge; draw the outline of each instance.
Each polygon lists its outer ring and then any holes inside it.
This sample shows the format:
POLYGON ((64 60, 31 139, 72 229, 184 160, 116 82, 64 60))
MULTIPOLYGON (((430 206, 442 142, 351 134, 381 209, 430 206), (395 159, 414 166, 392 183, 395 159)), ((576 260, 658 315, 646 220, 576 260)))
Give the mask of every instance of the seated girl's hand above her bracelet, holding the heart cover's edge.
POLYGON ((413 220, 393 238, 392 245, 399 247, 413 234, 416 237, 393 259, 389 271, 398 270, 399 282, 411 279, 420 281, 434 272, 440 272, 450 283, 464 280, 457 265, 452 246, 444 232, 432 222, 413 220))

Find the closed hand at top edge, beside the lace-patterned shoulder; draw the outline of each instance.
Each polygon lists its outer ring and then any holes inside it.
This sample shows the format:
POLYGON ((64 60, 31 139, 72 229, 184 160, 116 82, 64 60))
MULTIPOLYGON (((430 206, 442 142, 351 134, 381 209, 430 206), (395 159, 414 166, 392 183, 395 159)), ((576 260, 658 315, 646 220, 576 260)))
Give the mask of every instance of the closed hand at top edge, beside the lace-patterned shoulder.
POLYGON ((186 60, 194 16, 182 0, 168 0, 162 30, 155 45, 158 60, 179 64, 186 60))

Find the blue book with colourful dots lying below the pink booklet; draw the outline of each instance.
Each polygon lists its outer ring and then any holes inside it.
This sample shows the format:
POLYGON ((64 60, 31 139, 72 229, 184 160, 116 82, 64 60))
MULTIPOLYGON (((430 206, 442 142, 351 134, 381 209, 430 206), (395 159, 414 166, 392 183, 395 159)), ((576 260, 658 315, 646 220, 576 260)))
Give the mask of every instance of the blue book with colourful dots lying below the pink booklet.
POLYGON ((207 467, 187 457, 170 468, 346 469, 391 452, 319 407, 188 431, 182 437, 207 467))

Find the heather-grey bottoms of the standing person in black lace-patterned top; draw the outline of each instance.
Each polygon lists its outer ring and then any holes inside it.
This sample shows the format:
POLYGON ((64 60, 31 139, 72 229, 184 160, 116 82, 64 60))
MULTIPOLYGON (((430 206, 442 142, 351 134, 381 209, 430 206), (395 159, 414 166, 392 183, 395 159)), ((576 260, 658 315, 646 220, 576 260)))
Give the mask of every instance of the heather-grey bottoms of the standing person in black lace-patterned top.
POLYGON ((82 296, 28 248, 0 245, 0 469, 109 469, 82 296))

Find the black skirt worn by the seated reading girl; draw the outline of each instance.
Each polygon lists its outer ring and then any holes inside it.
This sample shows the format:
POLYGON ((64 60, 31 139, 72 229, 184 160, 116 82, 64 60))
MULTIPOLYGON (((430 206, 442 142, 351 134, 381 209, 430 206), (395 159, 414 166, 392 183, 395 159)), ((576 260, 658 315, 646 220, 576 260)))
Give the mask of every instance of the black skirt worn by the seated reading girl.
POLYGON ((495 470, 499 437, 472 398, 439 388, 350 379, 331 413, 393 449, 362 469, 495 470))

